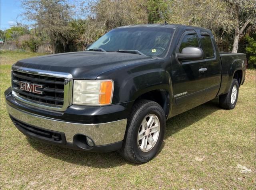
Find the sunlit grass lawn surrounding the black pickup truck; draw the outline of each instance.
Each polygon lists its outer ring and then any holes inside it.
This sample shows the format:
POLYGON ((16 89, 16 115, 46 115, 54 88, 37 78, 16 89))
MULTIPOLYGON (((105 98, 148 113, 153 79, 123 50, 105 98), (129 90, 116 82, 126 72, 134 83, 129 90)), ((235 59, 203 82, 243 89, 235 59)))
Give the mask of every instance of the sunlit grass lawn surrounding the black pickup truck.
POLYGON ((33 53, 1 52, 1 189, 255 189, 255 70, 234 110, 218 99, 167 121, 161 151, 134 165, 118 153, 88 153, 26 138, 6 112, 11 64, 33 53))

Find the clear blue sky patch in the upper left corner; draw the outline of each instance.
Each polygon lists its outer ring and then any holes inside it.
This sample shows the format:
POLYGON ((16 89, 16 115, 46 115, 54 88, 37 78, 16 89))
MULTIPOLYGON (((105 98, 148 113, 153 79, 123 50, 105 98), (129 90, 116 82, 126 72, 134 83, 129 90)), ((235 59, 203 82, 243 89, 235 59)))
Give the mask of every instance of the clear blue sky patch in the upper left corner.
POLYGON ((19 0, 0 0, 1 30, 8 29, 11 25, 16 25, 16 21, 25 24, 19 16, 22 12, 19 0))

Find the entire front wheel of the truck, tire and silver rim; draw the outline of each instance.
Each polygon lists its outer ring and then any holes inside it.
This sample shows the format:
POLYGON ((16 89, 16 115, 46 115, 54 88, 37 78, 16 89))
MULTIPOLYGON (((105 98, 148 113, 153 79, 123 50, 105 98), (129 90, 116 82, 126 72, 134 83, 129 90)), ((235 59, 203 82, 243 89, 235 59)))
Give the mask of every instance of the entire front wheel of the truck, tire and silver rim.
POLYGON ((156 102, 140 100, 132 110, 121 155, 133 163, 150 161, 164 139, 166 118, 156 102))

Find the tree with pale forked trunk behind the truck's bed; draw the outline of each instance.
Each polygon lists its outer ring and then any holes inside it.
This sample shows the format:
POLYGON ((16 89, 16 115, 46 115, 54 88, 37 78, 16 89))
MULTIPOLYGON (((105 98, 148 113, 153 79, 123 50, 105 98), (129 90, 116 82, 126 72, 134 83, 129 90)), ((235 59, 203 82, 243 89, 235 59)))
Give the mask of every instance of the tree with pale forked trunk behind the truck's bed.
POLYGON ((238 50, 239 39, 252 26, 256 31, 256 0, 174 0, 171 23, 205 27, 238 50))

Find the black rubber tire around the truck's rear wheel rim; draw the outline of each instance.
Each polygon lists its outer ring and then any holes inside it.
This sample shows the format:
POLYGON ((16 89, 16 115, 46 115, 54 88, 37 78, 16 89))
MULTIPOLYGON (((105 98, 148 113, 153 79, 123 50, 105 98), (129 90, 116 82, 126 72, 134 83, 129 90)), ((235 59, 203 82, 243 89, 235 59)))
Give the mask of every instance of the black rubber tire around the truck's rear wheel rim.
POLYGON ((219 97, 220 107, 223 108, 223 109, 226 109, 226 110, 234 109, 236 107, 236 102, 237 102, 237 99, 238 99, 238 92, 239 92, 238 81, 236 79, 233 79, 232 82, 231 82, 230 89, 228 90, 228 93, 223 94, 219 97), (232 96, 232 90, 233 90, 234 86, 236 86, 236 100, 232 104, 231 96, 232 96))

